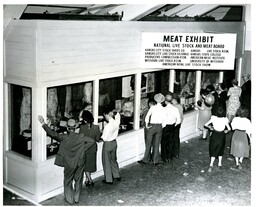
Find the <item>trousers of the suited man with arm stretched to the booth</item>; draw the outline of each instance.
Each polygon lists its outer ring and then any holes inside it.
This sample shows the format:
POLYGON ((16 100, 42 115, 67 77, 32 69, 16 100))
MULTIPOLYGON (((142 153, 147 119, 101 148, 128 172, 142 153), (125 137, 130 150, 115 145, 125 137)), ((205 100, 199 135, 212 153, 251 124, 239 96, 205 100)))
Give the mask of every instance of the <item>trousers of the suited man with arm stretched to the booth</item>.
POLYGON ((83 172, 84 164, 78 165, 76 168, 64 168, 64 196, 70 204, 79 202, 83 185, 83 172), (74 188, 73 180, 75 181, 74 188))

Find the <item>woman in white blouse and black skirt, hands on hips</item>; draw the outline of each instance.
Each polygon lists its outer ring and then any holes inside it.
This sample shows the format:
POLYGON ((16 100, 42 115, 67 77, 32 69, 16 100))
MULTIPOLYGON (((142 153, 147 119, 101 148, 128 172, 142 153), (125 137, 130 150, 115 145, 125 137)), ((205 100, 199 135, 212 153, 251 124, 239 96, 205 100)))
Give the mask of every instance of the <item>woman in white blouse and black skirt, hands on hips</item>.
POLYGON ((225 133, 227 130, 231 130, 229 127, 228 118, 225 116, 224 109, 222 106, 218 106, 216 114, 211 116, 211 119, 205 124, 205 127, 208 127, 212 130, 212 135, 209 142, 209 154, 210 154, 210 167, 208 172, 212 172, 213 163, 216 158, 219 159, 218 167, 222 167, 222 156, 225 149, 225 133))

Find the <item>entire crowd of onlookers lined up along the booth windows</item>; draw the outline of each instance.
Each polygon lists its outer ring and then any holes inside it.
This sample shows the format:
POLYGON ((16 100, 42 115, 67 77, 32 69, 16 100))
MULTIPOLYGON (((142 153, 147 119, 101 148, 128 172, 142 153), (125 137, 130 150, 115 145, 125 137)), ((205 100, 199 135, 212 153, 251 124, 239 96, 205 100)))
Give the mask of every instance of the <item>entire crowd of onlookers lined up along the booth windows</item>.
MULTIPOLYGON (((210 165, 212 172, 215 159, 218 168, 222 167, 225 149, 225 135, 233 130, 230 154, 235 157, 238 169, 242 169, 244 157, 250 154, 250 84, 244 77, 246 86, 239 87, 236 80, 233 87, 226 89, 219 84, 216 89, 209 85, 201 90, 201 100, 196 104, 199 110, 198 128, 202 131, 201 140, 209 141, 210 165), (242 98, 241 98, 242 97, 242 98), (246 97, 246 98, 243 98, 246 97), (210 132, 210 133, 209 133, 210 132)), ((99 126, 93 124, 94 118, 86 108, 80 113, 80 127, 74 119, 67 121, 67 133, 57 133, 38 117, 43 129, 60 143, 55 164, 64 167, 64 197, 69 204, 79 202, 83 180, 86 187, 93 187, 91 173, 97 170, 97 142, 103 141, 102 166, 104 179, 102 183, 113 184, 121 181, 117 162, 117 142, 120 127, 120 111, 105 107, 103 111, 107 124, 101 134, 99 126)), ((177 94, 168 92, 165 96, 155 94, 148 100, 148 110, 142 117, 144 127, 145 152, 140 164, 158 165, 160 160, 170 163, 180 156, 180 128, 183 121, 183 107, 177 94), (161 149, 161 150, 159 150, 161 149)))

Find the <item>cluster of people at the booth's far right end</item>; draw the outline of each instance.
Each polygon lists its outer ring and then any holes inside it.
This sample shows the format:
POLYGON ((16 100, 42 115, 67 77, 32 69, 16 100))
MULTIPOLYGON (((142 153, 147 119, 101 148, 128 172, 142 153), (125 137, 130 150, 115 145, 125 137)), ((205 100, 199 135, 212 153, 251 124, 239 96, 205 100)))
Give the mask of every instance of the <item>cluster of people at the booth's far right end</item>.
POLYGON ((218 168, 222 168, 226 134, 229 132, 232 133, 230 154, 235 157, 236 168, 242 169, 243 158, 250 156, 251 82, 249 74, 242 78, 245 81, 242 87, 234 79, 229 89, 221 83, 216 89, 209 85, 201 90, 201 100, 196 107, 199 110, 198 128, 202 131, 199 139, 210 138, 208 172, 212 172, 216 158, 218 168))

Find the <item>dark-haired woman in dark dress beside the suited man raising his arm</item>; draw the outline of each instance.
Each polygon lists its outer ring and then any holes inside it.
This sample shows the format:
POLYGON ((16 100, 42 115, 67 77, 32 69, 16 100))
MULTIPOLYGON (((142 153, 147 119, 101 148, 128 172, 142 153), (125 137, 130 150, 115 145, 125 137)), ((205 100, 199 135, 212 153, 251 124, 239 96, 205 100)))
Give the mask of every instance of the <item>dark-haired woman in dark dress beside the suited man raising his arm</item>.
POLYGON ((93 138, 95 143, 92 147, 86 151, 85 153, 85 186, 93 187, 94 183, 91 178, 91 173, 96 171, 97 163, 97 143, 100 140, 100 128, 98 125, 93 124, 93 115, 89 111, 83 111, 82 113, 82 125, 80 126, 79 133, 83 133, 84 135, 93 138))

